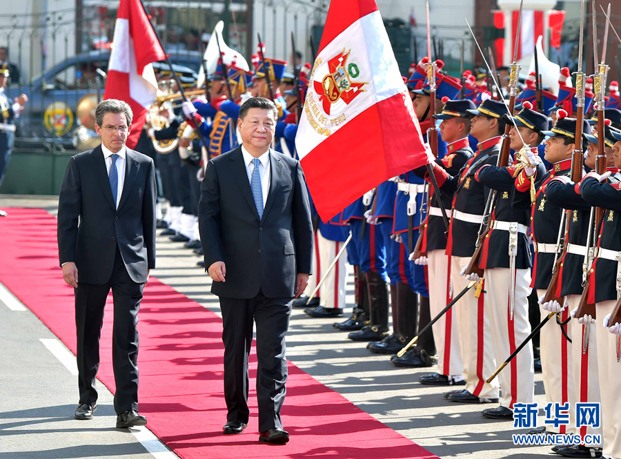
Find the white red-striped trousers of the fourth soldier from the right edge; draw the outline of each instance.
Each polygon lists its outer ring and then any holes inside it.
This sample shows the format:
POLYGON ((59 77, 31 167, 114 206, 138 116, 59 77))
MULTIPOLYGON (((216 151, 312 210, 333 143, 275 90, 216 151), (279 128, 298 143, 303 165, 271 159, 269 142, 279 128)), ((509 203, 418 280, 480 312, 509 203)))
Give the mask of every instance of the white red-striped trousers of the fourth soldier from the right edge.
MULTIPOLYGON (((504 362, 517 346, 531 334, 529 300, 531 270, 516 269, 513 320, 509 304, 509 268, 486 269, 485 310, 491 323, 491 336, 496 362, 504 362)), ((491 375, 491 374, 490 374, 491 375)), ((489 376, 489 375, 488 375, 489 376)), ((498 374, 502 398, 500 404, 513 409, 515 403, 532 403, 535 396, 533 347, 529 344, 517 353, 511 363, 498 374)))

